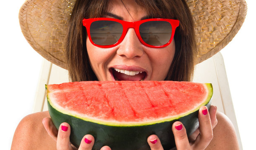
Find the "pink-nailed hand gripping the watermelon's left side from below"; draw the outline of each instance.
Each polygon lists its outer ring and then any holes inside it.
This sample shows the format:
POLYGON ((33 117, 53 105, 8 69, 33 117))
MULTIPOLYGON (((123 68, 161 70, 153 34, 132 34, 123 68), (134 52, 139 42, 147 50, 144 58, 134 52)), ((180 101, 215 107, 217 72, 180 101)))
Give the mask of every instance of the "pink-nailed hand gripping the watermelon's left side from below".
MULTIPOLYGON (((59 125, 59 130, 54 126, 52 119, 46 117, 42 120, 48 135, 57 142, 57 150, 91 150, 94 144, 92 135, 85 135, 81 140, 79 148, 70 143, 70 125, 63 122, 59 125)), ((103 146, 101 150, 111 150, 108 146, 103 146)))

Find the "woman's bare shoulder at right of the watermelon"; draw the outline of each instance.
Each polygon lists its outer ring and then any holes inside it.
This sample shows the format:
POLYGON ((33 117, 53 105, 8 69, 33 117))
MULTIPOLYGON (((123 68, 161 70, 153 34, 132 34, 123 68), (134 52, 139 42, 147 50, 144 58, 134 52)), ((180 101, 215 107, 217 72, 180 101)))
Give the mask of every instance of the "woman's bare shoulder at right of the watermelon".
POLYGON ((207 150, 239 150, 235 128, 230 119, 222 112, 217 112, 217 125, 213 129, 213 139, 207 150))

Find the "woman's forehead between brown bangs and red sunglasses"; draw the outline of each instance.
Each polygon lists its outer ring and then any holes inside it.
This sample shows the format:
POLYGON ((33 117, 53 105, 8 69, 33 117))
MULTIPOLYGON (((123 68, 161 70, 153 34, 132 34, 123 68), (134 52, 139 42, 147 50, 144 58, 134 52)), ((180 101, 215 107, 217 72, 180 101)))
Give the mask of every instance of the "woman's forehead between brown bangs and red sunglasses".
POLYGON ((126 21, 140 20, 147 16, 143 7, 138 5, 135 0, 110 0, 108 13, 118 15, 126 21))

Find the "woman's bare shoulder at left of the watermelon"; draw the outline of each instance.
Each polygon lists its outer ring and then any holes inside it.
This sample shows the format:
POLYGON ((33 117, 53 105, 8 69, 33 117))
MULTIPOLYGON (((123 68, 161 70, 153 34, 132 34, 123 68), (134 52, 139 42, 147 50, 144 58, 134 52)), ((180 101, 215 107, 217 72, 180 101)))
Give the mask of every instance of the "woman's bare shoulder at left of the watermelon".
POLYGON ((50 117, 48 111, 37 112, 24 117, 14 133, 11 150, 52 149, 56 143, 44 129, 42 124, 44 117, 50 117))

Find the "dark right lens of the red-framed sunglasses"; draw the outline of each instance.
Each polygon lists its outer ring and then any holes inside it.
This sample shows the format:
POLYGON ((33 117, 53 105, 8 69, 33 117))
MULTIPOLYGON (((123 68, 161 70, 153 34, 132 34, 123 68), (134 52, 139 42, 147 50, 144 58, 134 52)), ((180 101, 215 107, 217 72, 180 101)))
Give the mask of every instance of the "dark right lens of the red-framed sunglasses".
POLYGON ((148 21, 140 25, 142 40, 153 46, 165 45, 171 39, 172 27, 166 21, 148 21))

